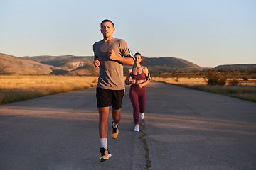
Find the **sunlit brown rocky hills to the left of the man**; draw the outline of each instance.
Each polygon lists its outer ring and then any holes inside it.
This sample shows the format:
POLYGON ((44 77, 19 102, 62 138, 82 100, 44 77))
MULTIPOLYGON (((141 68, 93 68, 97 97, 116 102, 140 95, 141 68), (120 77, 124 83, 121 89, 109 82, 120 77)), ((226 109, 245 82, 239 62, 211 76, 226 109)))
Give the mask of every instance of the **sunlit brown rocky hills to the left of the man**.
POLYGON ((93 57, 15 57, 0 53, 0 74, 71 74, 97 75, 99 69, 93 66, 93 57))

